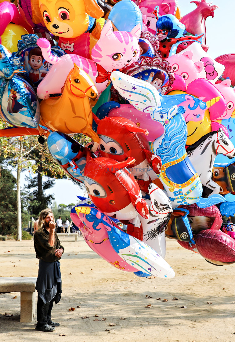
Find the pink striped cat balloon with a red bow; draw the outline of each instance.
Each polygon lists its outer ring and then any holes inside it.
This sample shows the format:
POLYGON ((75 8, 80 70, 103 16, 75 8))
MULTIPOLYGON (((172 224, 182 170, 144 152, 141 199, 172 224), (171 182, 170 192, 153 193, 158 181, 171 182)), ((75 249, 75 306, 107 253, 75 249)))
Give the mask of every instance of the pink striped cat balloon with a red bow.
POLYGON ((108 20, 101 31, 100 39, 92 49, 92 60, 75 54, 55 57, 51 54, 49 41, 44 38, 38 39, 37 44, 44 59, 53 64, 38 86, 38 96, 46 99, 50 94, 60 94, 74 63, 91 77, 100 94, 106 88, 113 70, 127 67, 138 60, 140 33, 140 24, 131 32, 113 32, 111 21, 108 20))

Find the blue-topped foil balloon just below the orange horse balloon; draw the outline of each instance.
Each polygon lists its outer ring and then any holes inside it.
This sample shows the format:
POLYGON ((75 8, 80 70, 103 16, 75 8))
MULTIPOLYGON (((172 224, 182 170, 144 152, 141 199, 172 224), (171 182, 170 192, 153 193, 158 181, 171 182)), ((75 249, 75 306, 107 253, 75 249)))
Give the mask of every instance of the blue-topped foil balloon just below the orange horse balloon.
POLYGON ((47 145, 59 166, 71 178, 84 183, 86 158, 96 158, 96 155, 91 153, 88 147, 84 147, 69 135, 60 132, 50 133, 47 145))

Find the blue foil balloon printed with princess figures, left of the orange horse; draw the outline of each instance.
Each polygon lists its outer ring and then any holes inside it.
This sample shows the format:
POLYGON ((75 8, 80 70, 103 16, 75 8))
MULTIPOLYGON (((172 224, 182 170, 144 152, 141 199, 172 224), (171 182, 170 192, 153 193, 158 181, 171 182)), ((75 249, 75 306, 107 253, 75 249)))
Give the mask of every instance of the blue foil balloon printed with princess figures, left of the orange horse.
POLYGON ((19 76, 0 79, 0 116, 6 122, 27 128, 37 128, 40 108, 30 84, 19 76))

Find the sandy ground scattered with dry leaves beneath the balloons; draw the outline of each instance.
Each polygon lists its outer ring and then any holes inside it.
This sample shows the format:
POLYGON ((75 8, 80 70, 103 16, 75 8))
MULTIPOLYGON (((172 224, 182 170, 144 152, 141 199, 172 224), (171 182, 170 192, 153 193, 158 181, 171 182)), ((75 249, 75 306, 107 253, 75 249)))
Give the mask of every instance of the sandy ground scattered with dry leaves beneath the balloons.
MULTIPOLYGON (((210 265, 167 240, 175 278, 139 278, 110 266, 82 237, 69 239, 61 259, 63 293, 52 311, 60 327, 47 333, 34 330, 36 318, 20 323, 20 294, 0 294, 1 342, 235 341, 235 266, 210 265)), ((1 277, 37 276, 33 240, 0 241, 0 265, 1 277)))

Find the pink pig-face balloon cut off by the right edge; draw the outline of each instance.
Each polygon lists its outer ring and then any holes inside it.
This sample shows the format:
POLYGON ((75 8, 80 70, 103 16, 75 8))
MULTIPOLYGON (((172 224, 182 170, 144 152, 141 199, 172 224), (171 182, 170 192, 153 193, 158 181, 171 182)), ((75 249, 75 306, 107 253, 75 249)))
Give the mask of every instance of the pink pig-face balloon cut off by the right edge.
POLYGON ((222 115, 220 115, 218 120, 220 119, 229 119, 232 115, 235 115, 235 89, 231 88, 231 80, 224 80, 218 84, 215 84, 215 87, 221 92, 226 101, 226 109, 222 115))

